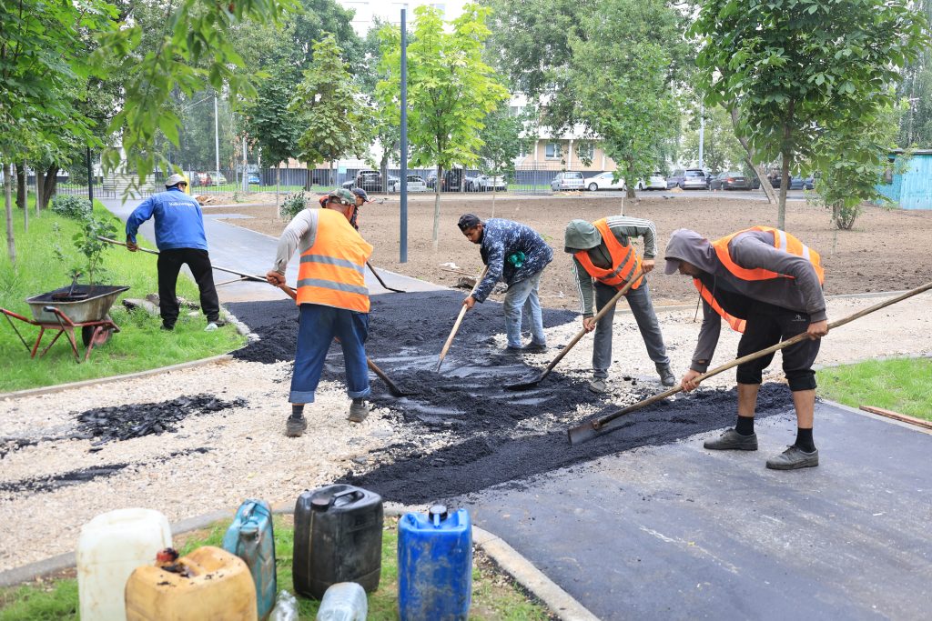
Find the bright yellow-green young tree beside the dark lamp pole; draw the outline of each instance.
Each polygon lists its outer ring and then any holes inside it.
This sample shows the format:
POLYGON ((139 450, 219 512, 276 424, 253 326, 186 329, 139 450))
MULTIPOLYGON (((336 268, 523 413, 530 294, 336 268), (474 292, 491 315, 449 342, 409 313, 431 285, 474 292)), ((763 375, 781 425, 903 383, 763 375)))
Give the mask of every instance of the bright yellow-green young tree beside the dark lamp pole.
MULTIPOLYGON (((489 9, 466 5, 446 31, 440 11, 415 9, 413 42, 408 46, 408 135, 411 163, 436 165, 433 197, 433 250, 440 231, 440 185, 444 170, 454 164, 473 165, 482 146, 483 119, 508 99, 508 91, 482 60, 488 36, 489 9)), ((401 93, 401 34, 381 31, 382 67, 389 79, 379 82, 377 97, 384 107, 398 107, 401 93)), ((403 154, 404 156, 404 154, 403 154)))

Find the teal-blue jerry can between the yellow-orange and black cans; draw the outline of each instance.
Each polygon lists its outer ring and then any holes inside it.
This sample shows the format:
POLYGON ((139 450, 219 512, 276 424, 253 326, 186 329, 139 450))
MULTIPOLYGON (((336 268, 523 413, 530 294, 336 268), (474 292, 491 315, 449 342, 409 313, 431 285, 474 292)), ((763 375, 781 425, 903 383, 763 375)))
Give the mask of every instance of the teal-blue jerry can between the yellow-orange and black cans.
POLYGON ((226 529, 224 549, 246 561, 255 583, 258 616, 266 618, 278 593, 272 511, 266 501, 253 498, 243 501, 233 523, 226 529))

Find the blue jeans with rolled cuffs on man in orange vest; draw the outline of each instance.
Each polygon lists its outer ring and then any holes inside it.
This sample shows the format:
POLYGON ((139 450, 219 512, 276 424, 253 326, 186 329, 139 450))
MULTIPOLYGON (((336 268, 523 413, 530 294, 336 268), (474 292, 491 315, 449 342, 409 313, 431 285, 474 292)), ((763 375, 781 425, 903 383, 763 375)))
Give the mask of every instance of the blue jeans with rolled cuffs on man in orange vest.
POLYGON ((369 314, 322 304, 301 304, 297 329, 295 371, 292 373, 292 403, 313 403, 321 381, 323 361, 334 337, 343 347, 350 398, 369 395, 369 370, 365 362, 365 339, 369 335, 369 314))

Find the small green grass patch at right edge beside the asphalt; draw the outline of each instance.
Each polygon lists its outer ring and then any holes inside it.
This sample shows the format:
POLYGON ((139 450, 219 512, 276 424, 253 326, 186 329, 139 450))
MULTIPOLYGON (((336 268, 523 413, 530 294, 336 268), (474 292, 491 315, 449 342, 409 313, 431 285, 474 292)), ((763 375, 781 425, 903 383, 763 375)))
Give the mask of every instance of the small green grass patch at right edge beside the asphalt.
POLYGON ((932 360, 869 360, 818 371, 818 391, 853 408, 872 405, 932 421, 932 360))

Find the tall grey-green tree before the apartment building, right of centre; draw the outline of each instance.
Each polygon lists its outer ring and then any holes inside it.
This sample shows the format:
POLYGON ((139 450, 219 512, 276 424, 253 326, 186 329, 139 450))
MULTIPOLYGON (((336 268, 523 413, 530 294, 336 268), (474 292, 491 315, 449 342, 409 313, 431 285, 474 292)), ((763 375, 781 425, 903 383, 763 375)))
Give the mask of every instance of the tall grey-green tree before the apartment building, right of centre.
POLYGON ((670 42, 681 38, 683 18, 663 0, 602 0, 582 21, 589 37, 570 38, 580 117, 624 171, 633 198, 678 133, 670 67, 681 52, 670 42))

